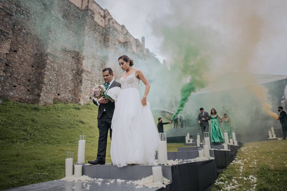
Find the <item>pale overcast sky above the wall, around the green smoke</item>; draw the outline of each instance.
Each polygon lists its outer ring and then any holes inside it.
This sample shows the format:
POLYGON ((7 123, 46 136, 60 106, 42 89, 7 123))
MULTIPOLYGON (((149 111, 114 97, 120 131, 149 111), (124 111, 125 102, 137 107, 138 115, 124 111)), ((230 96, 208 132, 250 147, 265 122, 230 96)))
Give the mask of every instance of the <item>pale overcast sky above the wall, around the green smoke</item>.
MULTIPOLYGON (((245 38, 240 36, 238 30, 248 31, 244 28, 247 25, 242 24, 243 28, 238 25, 258 15, 260 38, 258 42, 248 47, 254 51, 250 58, 250 72, 287 75, 287 1, 259 0, 252 1, 253 4, 249 3, 251 1, 231 0, 96 0, 96 2, 104 9, 108 9, 119 24, 124 24, 132 36, 138 39, 144 36, 146 48, 155 53, 160 61, 167 58, 161 46, 164 36, 158 34, 161 24, 163 26, 174 24, 174 27, 178 24, 187 24, 189 28, 196 26, 197 29, 200 27, 204 30, 210 29, 216 36, 210 38, 208 43, 210 46, 216 44, 214 49, 221 49, 222 46, 224 50, 218 56, 216 51, 212 53, 214 63, 226 64, 223 60, 225 54, 229 54, 228 49, 232 50, 238 46, 238 42, 242 42, 241 38, 245 38), (170 19, 172 17, 174 19, 170 19)), ((252 38, 252 35, 248 38, 252 38)), ((234 60, 230 58, 228 60, 235 64, 237 61, 235 59, 241 55, 239 52, 242 50, 244 47, 234 50, 229 55, 229 57, 236 55, 234 60)), ((218 68, 222 70, 224 65, 218 68)), ((228 71, 232 71, 230 68, 228 71)))

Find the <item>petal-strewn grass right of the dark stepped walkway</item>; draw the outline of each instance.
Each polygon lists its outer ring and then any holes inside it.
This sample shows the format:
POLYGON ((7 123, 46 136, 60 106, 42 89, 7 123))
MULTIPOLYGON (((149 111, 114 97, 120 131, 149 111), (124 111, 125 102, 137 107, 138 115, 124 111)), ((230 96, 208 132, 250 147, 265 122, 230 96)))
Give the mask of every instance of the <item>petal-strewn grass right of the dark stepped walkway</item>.
POLYGON ((230 184, 232 186, 239 185, 236 189, 230 190, 287 190, 286 148, 287 141, 262 141, 244 144, 236 156, 235 163, 230 164, 226 170, 219 174, 217 183, 211 191, 227 190, 227 185, 230 184), (243 162, 244 165, 238 164, 239 162, 243 162), (243 166, 242 172, 240 172, 240 166, 243 166), (257 181, 252 182, 251 179, 254 178, 249 179, 250 176, 257 178, 257 181))

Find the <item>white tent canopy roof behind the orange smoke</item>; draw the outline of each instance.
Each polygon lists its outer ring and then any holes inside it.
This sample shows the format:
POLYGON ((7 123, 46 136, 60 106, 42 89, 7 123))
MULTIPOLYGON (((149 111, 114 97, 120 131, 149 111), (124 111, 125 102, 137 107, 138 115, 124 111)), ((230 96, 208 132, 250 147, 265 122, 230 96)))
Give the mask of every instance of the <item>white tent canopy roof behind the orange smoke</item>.
MULTIPOLYGON (((257 79, 257 83, 259 84, 265 84, 287 78, 286 75, 270 75, 270 74, 251 74, 251 75, 257 79)), ((235 72, 223 74, 222 76, 219 76, 218 78, 215 78, 214 80, 210 81, 207 87, 197 91, 192 95, 246 87, 247 84, 244 81, 244 76, 246 75, 235 72)))

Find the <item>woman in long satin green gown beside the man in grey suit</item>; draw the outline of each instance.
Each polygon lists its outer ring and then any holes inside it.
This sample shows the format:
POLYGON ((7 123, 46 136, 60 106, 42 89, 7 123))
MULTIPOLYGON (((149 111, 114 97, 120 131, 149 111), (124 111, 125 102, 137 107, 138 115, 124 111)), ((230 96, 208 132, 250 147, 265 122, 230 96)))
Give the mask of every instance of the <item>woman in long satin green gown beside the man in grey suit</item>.
POLYGON ((217 121, 217 118, 221 118, 217 113, 214 108, 211 109, 210 112, 210 118, 211 118, 211 123, 210 123, 210 135, 211 135, 211 141, 213 143, 221 143, 224 142, 224 135, 220 129, 220 125, 217 121))

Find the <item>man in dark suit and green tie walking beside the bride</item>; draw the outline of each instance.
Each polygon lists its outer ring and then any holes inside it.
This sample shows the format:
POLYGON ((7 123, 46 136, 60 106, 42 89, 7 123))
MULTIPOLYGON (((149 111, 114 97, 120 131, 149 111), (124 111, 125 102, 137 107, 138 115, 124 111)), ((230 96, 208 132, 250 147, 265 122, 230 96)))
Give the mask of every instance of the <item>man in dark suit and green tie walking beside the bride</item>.
MULTIPOLYGON (((114 80, 113 70, 111 68, 103 69, 103 78, 105 81, 106 91, 112 87, 120 87, 120 83, 114 80)), ((105 164, 108 131, 110 130, 110 138, 112 139, 112 118, 115 110, 115 102, 109 101, 106 97, 101 97, 99 101, 93 99, 93 103, 99 106, 98 109, 98 128, 99 141, 97 158, 94 161, 88 161, 89 164, 105 164)))

